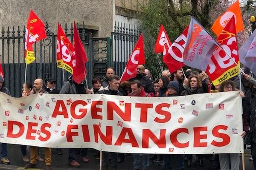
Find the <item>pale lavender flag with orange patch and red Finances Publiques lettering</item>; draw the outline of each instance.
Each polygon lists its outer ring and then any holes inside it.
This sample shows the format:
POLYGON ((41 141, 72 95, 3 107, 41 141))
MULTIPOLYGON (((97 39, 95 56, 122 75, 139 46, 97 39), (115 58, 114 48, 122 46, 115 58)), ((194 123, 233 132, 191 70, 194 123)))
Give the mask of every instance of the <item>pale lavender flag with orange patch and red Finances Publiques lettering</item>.
POLYGON ((184 64, 205 71, 217 44, 204 27, 192 17, 183 53, 184 64))

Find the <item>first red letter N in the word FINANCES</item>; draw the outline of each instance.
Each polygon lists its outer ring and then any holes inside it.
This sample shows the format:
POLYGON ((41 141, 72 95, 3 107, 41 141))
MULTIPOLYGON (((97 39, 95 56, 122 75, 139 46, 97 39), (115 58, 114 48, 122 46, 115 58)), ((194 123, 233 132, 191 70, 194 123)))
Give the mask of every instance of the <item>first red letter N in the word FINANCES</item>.
POLYGON ((104 135, 99 125, 93 125, 94 130, 94 140, 96 143, 98 143, 98 137, 104 142, 105 144, 111 145, 112 144, 112 137, 113 137, 113 127, 112 126, 106 126, 106 135, 104 135))

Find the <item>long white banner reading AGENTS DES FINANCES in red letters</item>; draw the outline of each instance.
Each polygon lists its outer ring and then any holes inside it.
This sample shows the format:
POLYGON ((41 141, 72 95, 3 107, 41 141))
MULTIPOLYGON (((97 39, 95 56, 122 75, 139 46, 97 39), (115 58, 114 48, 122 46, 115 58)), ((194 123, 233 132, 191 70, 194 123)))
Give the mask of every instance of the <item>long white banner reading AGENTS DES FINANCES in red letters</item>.
POLYGON ((243 153, 238 91, 177 97, 0 94, 0 142, 119 153, 243 153))

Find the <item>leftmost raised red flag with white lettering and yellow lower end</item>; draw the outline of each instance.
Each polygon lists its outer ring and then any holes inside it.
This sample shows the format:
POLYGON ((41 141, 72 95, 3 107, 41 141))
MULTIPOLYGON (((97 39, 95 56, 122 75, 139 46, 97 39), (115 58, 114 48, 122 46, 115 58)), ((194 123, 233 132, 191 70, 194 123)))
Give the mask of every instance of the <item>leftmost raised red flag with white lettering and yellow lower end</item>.
POLYGON ((44 23, 38 18, 34 11, 30 10, 25 33, 25 60, 26 64, 35 61, 33 43, 46 38, 44 23))

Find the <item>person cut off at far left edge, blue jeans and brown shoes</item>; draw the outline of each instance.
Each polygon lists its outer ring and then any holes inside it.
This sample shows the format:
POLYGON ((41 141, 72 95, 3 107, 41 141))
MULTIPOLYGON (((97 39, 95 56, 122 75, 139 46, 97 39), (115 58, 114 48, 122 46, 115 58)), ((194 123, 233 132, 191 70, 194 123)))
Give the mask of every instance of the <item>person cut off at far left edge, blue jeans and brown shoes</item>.
MULTIPOLYGON (((9 96, 11 95, 10 91, 8 88, 3 87, 4 79, 2 76, 0 76, 0 92, 3 92, 5 94, 8 94, 9 96)), ((6 158, 7 156, 7 144, 2 143, 1 144, 1 161, 3 164, 10 164, 10 161, 6 158)))

